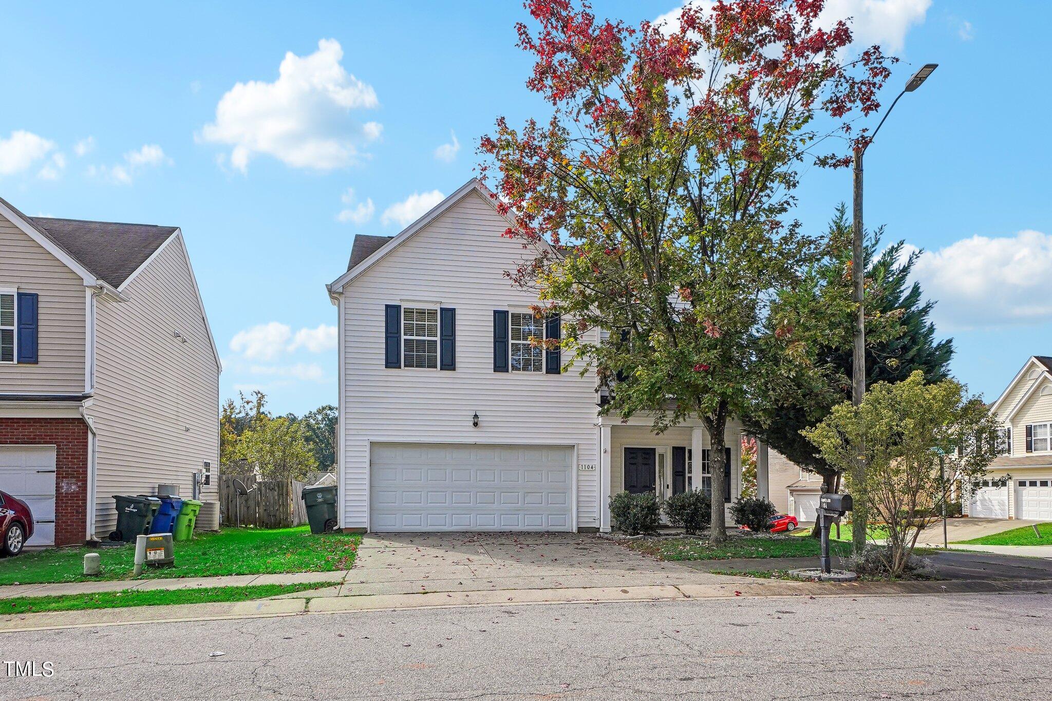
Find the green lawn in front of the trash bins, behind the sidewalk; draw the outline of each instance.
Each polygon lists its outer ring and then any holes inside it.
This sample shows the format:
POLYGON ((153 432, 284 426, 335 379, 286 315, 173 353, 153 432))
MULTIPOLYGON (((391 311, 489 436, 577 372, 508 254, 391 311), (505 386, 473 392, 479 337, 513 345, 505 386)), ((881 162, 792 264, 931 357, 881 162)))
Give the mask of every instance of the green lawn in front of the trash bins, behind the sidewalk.
MULTIPOLYGON (((332 572, 348 570, 355 562, 362 537, 342 533, 311 535, 303 525, 295 529, 223 529, 220 533, 195 534, 176 545, 176 566, 146 568, 145 578, 211 577, 286 572, 332 572)), ((129 579, 135 547, 53 548, 0 559, 0 584, 129 579), (84 577, 84 554, 99 553, 102 575, 84 577)))

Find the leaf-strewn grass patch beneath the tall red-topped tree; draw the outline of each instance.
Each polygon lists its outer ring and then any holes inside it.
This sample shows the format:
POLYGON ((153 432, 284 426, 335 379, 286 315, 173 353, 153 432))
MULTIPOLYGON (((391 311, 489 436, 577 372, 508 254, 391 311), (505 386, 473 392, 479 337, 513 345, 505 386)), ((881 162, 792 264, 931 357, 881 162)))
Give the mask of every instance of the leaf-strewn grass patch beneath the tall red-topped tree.
MULTIPOLYGON (((662 560, 729 560, 734 558, 766 557, 817 557, 821 543, 813 538, 784 536, 730 537, 727 542, 713 547, 707 540, 669 538, 663 540, 643 538, 629 541, 629 547, 662 560)), ((830 544, 833 555, 850 554, 845 543, 830 544)))

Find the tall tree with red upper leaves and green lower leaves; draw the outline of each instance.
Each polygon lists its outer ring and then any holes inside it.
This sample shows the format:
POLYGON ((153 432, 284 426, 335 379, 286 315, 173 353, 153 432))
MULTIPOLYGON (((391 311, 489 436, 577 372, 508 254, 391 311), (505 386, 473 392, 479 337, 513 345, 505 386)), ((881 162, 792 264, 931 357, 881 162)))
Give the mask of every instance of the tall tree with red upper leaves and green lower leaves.
MULTIPOLYGON (((850 162, 866 139, 851 120, 878 108, 894 61, 849 54, 846 21, 817 26, 823 4, 688 5, 632 27, 529 0, 519 45, 550 118, 500 118, 480 143, 506 235, 529 251, 512 282, 561 314, 568 363, 618 378, 603 412, 703 424, 715 495, 728 419, 766 399, 757 378, 809 367, 813 332, 782 323, 776 295, 818 248, 789 217, 797 170, 850 162)), ((711 538, 726 538, 719 498, 711 538)))

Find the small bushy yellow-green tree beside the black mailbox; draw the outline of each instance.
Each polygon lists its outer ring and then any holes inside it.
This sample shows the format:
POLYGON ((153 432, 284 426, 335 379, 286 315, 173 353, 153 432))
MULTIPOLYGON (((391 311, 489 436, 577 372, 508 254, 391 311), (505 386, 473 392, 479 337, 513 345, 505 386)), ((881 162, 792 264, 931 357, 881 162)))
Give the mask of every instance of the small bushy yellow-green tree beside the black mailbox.
POLYGON ((855 504, 885 524, 893 577, 948 502, 950 486, 970 492, 997 454, 997 421, 983 400, 953 379, 927 384, 920 371, 873 385, 857 408, 833 407, 804 435, 844 473, 855 504), (861 474, 853 470, 858 456, 866 463, 861 474))

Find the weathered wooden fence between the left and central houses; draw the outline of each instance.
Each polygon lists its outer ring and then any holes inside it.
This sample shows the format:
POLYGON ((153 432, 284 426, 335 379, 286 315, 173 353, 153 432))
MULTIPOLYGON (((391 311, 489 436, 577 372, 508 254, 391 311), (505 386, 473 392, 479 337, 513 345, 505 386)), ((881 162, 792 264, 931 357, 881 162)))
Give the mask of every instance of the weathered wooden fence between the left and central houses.
POLYGON ((223 525, 255 525, 287 529, 307 522, 307 510, 300 495, 304 482, 296 479, 259 479, 256 475, 219 475, 219 515, 223 525), (249 490, 238 494, 234 480, 249 490))

